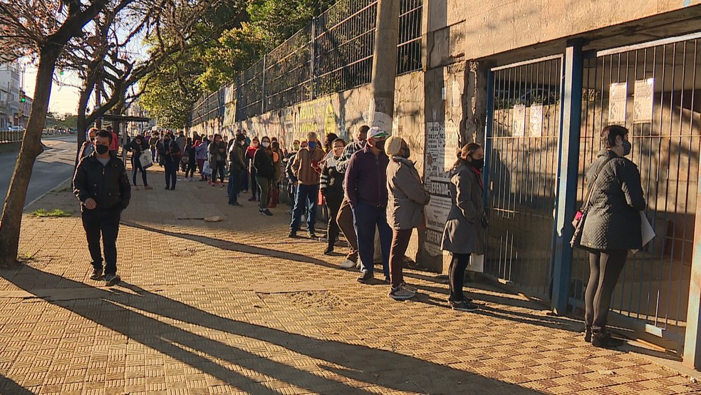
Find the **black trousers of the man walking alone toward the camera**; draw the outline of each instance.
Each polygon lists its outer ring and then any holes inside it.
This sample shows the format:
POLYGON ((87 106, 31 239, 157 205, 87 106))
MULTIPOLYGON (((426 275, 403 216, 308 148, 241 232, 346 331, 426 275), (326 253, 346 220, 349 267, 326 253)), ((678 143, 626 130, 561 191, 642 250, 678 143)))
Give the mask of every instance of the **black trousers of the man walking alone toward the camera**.
POLYGON ((119 220, 122 210, 83 209, 83 228, 88 239, 88 251, 91 264, 96 270, 103 269, 103 256, 100 250, 100 235, 105 249, 105 275, 117 273, 117 235, 119 234, 119 220))

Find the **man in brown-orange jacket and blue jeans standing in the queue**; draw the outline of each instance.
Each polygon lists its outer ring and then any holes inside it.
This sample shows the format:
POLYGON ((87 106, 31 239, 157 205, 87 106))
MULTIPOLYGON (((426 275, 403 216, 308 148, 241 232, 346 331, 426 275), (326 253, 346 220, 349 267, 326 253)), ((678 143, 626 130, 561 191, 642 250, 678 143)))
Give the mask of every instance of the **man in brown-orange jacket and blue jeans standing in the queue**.
POLYGON ((292 210, 290 233, 287 237, 297 237, 297 230, 302 222, 303 207, 306 206, 309 237, 316 238, 314 225, 316 225, 316 205, 319 198, 319 185, 321 184, 319 163, 324 155, 323 150, 318 146, 316 133, 308 133, 306 148, 299 149, 292 163, 292 173, 297 178, 298 185, 294 210, 292 210))

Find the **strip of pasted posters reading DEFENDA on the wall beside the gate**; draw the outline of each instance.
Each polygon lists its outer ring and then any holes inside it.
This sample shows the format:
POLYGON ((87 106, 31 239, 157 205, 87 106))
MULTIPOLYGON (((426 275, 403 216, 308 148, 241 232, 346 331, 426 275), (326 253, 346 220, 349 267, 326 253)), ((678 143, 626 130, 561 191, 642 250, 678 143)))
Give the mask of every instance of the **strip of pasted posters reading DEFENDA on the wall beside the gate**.
MULTIPOLYGON (((453 127, 450 127, 453 129, 453 127)), ((431 200, 424 212, 426 216, 427 240, 426 251, 432 256, 442 255, 440 242, 443 235, 443 227, 450 212, 450 175, 445 167, 455 163, 446 163, 446 127, 440 122, 426 123, 426 154, 425 158, 425 184, 431 195, 431 200)), ((452 133, 450 131, 449 133, 452 133)), ((457 128, 455 128, 457 136, 457 128)), ((457 137, 456 137, 457 138, 457 137)), ((455 143, 457 145, 457 143, 455 143)), ((454 156, 455 158, 455 156, 454 156)))

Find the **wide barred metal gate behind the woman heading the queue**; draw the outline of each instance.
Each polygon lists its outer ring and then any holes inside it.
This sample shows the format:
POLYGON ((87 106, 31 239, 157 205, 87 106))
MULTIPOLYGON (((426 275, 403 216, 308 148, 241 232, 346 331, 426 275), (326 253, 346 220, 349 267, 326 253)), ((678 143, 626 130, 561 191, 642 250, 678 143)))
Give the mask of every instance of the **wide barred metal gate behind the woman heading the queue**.
MULTIPOLYGON (((629 255, 612 307, 646 332, 683 341, 690 288, 701 148, 701 35, 592 53, 584 59, 578 198, 599 133, 625 125, 657 237, 629 255)), ((586 254, 576 252, 570 302, 583 305, 586 254)), ((628 324, 631 322, 628 321, 628 324)))

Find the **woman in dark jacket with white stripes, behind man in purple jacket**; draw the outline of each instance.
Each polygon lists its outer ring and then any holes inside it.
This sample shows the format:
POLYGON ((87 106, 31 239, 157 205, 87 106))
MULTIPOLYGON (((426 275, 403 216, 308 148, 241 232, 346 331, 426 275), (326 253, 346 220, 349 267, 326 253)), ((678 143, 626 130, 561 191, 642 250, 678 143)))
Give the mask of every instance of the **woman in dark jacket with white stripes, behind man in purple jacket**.
POLYGON ((336 138, 331 143, 331 158, 324 160, 321 167, 321 195, 326 201, 326 209, 328 210, 328 225, 326 226, 326 240, 328 242, 324 254, 328 255, 333 252, 333 245, 338 240, 338 234, 341 230, 338 229, 338 210, 343 202, 343 173, 336 170, 336 160, 341 158, 343 147, 346 146, 346 141, 342 138, 336 138))

